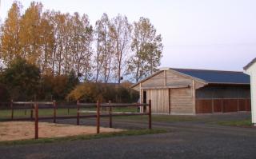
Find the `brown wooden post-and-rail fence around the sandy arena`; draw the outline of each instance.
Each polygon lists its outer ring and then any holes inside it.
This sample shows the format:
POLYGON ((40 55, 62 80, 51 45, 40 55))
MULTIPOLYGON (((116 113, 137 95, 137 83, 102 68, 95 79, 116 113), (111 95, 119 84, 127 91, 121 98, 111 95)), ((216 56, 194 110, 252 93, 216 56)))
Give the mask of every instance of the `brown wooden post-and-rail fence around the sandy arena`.
MULTIPOLYGON (((70 109, 70 106, 62 107, 70 109)), ((74 108, 74 107, 72 107, 74 108)), ((76 116, 58 116, 56 113, 57 105, 55 101, 50 102, 38 102, 38 101, 11 101, 10 102, 10 118, 2 119, 2 121, 34 121, 34 138, 38 139, 38 121, 46 120, 46 119, 54 119, 54 123, 56 119, 77 119, 77 125, 79 125, 79 121, 81 118, 86 117, 96 117, 96 127, 97 133, 100 133, 100 118, 101 117, 109 117, 110 120, 110 128, 112 128, 112 117, 114 116, 134 116, 134 115, 147 115, 149 118, 149 129, 152 128, 152 117, 151 117, 151 100, 149 100, 148 104, 119 104, 119 103, 80 103, 77 102, 77 115, 76 116), (132 113, 132 112, 114 112, 113 108, 120 107, 144 107, 148 106, 147 113, 132 113), (96 108, 96 111, 89 110, 81 110, 83 108, 96 108), (30 117, 14 117, 14 109, 30 109, 30 117), (54 113, 52 117, 39 117, 38 109, 54 109, 54 113), (108 113, 102 113, 102 109, 108 109, 108 113), (87 113, 86 115, 81 115, 81 113, 87 113), (96 114, 88 114, 88 113, 96 113, 96 114)))

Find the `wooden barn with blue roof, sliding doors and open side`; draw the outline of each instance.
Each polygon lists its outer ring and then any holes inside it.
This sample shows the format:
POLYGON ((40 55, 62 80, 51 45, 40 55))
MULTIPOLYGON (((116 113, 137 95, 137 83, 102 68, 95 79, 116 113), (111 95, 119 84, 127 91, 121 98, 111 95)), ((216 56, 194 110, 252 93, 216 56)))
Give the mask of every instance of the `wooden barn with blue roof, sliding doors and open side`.
POLYGON ((161 68, 131 88, 141 103, 151 99, 152 113, 250 111, 250 76, 242 72, 161 68))

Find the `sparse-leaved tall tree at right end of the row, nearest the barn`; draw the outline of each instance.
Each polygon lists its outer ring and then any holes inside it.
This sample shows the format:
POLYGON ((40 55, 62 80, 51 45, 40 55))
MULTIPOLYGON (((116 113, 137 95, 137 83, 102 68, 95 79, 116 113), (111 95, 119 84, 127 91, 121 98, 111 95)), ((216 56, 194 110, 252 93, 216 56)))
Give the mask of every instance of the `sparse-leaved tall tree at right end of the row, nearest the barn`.
POLYGON ((134 22, 131 50, 134 55, 128 62, 128 74, 132 74, 136 81, 153 74, 160 66, 162 38, 156 34, 150 19, 140 18, 134 22))

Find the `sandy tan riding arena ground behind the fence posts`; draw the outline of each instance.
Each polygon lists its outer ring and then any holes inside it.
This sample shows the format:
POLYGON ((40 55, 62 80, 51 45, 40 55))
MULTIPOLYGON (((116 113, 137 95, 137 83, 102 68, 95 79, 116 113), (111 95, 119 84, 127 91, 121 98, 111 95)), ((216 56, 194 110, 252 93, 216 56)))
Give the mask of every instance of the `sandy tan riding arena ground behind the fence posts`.
MULTIPOLYGON (((96 133, 95 126, 66 125, 47 122, 38 123, 40 137, 67 137, 96 133)), ((100 128, 101 133, 120 132, 122 129, 100 128)), ((0 141, 15 141, 34 138, 34 122, 9 121, 0 122, 0 141)))

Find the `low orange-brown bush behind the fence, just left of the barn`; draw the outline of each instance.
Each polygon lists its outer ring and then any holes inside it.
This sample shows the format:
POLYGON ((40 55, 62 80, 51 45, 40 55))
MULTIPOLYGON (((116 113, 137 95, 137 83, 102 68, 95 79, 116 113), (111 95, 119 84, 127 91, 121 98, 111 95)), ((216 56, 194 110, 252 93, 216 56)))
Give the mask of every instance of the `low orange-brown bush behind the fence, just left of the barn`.
POLYGON ((138 92, 122 85, 86 82, 77 85, 66 97, 69 101, 112 101, 112 102, 136 102, 138 92))

